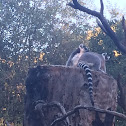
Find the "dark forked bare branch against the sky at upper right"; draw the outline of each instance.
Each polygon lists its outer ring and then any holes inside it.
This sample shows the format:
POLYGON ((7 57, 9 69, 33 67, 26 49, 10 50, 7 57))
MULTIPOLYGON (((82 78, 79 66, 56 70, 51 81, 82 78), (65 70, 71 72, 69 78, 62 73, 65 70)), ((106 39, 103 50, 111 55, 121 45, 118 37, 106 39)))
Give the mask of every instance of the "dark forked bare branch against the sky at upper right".
MULTIPOLYGON (((93 10, 90 10, 84 6, 81 6, 77 0, 73 0, 73 3, 69 3, 68 5, 71 6, 74 9, 78 9, 80 11, 86 12, 87 14, 90 14, 92 16, 95 16, 97 18, 99 18, 99 20, 101 21, 101 24, 103 25, 104 29, 106 30, 107 35, 113 40, 113 42, 115 43, 115 45, 120 49, 121 52, 126 53, 126 46, 124 46, 120 40, 118 39, 117 35, 115 34, 115 32, 111 29, 111 27, 109 26, 107 20, 105 19, 105 17, 103 16, 103 10, 104 10, 104 6, 103 6, 103 1, 100 0, 101 2, 101 9, 100 12, 96 12, 93 10)), ((105 31, 104 30, 104 31, 105 31)), ((125 35, 126 36, 126 35, 125 35)))

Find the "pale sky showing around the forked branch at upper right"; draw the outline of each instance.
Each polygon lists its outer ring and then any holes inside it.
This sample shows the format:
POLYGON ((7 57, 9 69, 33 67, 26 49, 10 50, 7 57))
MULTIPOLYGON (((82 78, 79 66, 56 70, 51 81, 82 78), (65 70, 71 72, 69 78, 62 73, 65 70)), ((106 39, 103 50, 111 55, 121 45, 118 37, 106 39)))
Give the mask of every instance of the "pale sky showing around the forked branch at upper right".
MULTIPOLYGON (((63 4, 63 6, 66 7, 66 9, 67 9, 68 6, 66 6, 66 4, 69 3, 70 1, 72 1, 72 0, 61 0, 59 2, 61 2, 61 4, 63 4)), ((97 12, 100 12, 100 0, 80 0, 80 1, 86 3, 85 7, 89 8, 91 10, 95 10, 97 12)), ((112 15, 110 14, 110 11, 112 9, 116 9, 117 12, 119 12, 118 16, 116 16, 114 19, 121 20, 123 15, 125 16, 125 19, 126 19, 126 0, 103 0, 103 3, 104 3, 104 16, 106 19, 113 20, 113 18, 111 19, 112 15)), ((83 12, 79 13, 79 11, 77 13, 77 17, 71 17, 71 18, 70 17, 62 17, 62 14, 60 14, 58 12, 56 15, 56 18, 59 18, 61 20, 67 20, 67 21, 69 21, 69 23, 71 21, 71 24, 75 23, 75 24, 79 24, 79 25, 84 20, 83 19, 83 12), (80 17, 80 18, 78 18, 78 17, 80 17)), ((89 22, 89 20, 87 20, 86 22, 89 22)), ((97 24, 96 19, 94 17, 92 17, 92 20, 89 24, 91 26, 96 25, 97 24)), ((60 25, 62 26, 62 23, 58 24, 58 27, 60 25)))

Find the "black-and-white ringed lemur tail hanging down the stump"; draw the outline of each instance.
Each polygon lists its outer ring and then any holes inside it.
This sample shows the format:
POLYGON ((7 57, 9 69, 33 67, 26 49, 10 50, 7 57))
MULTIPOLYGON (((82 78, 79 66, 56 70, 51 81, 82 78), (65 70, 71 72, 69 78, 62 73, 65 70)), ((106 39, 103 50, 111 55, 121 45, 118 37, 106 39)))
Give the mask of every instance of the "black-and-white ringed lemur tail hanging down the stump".
POLYGON ((83 68, 86 72, 88 78, 88 87, 89 87, 89 95, 92 105, 94 106, 94 99, 93 99, 93 83, 92 83, 92 74, 88 65, 83 62, 78 63, 78 67, 83 68))

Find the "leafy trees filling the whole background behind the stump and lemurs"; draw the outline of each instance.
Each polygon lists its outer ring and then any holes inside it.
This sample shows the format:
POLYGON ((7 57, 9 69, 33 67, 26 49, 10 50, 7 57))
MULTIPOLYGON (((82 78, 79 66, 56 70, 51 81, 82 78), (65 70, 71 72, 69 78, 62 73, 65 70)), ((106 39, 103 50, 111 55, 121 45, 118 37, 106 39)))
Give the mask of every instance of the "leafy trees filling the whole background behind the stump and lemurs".
MULTIPOLYGON (((125 82, 126 56, 115 57, 111 39, 102 31, 86 40, 89 16, 67 7, 66 0, 3 0, 0 2, 0 118, 21 123, 25 78, 29 67, 64 65, 80 43, 95 52, 107 52, 107 71, 125 82), (64 4, 65 3, 65 4, 64 4), (76 15, 82 15, 81 17, 76 15), (71 19, 72 17, 72 19, 71 19)), ((120 22, 110 22, 123 36, 120 22)), ((96 31, 93 31, 95 34, 96 31)), ((123 36, 124 38, 124 36, 123 36)), ((123 39, 120 38, 120 39, 123 39)), ((120 126, 123 126, 120 122, 120 126)))

